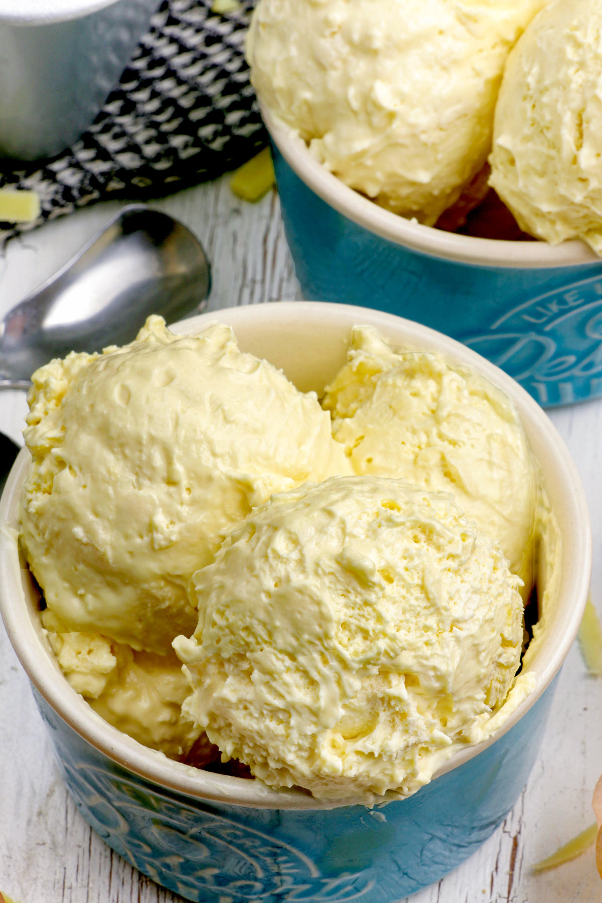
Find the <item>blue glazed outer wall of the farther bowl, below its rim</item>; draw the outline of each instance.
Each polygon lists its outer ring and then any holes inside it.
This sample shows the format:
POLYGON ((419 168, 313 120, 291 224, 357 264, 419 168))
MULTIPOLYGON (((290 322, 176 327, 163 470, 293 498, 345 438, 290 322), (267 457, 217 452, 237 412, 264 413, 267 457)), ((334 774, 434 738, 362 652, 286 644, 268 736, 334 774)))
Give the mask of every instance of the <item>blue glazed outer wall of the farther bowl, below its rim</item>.
POLYGON ((543 406, 602 395, 602 261, 548 269, 427 256, 329 206, 275 147, 274 164, 304 297, 372 307, 445 332, 505 369, 543 406))

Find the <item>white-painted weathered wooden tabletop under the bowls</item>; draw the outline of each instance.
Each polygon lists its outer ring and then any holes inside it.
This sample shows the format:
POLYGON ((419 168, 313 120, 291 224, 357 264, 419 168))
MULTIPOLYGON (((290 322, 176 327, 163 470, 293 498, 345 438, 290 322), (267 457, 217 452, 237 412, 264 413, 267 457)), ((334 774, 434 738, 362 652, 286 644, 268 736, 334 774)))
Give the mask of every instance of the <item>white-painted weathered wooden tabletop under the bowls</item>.
MULTIPOLYGON (((118 209, 81 210, 14 241, 0 255, 0 314, 51 275, 118 209)), ((209 310, 299 297, 275 193, 251 206, 227 180, 154 206, 192 228, 213 264, 209 310)), ((24 395, 0 393, 0 428, 20 437, 24 395)), ((594 533, 593 600, 602 615, 602 401, 551 414, 587 490, 594 533)), ((0 579, 1 575, 0 575, 0 579)), ((57 775, 28 681, 0 626, 0 890, 22 903, 174 903, 91 831, 57 775)), ((593 822, 602 772, 602 679, 574 647, 560 676, 542 753, 505 823, 465 864, 412 903, 593 903, 593 851, 535 875, 535 862, 593 822)))

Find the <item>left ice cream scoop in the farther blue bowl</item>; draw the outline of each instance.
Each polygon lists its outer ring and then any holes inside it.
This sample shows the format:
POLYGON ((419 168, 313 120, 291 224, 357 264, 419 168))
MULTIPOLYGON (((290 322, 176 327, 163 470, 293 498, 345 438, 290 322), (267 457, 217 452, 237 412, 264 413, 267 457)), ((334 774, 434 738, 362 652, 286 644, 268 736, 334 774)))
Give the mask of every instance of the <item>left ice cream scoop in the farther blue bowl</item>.
POLYGON ((508 51, 545 0, 261 0, 270 113, 343 182, 432 225, 486 163, 508 51))

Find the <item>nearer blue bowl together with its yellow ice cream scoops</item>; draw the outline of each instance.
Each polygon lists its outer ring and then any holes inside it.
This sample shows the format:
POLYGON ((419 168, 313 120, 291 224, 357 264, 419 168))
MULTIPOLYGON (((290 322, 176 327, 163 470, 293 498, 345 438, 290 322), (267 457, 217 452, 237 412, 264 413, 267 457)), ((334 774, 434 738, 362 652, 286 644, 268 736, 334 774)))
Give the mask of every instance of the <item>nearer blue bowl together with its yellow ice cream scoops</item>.
POLYGON ((175 330, 39 370, 2 498, 0 607, 61 773, 184 898, 403 898, 533 766, 588 591, 577 472, 520 386, 411 321, 175 330), (255 777, 192 767, 202 730, 255 777))

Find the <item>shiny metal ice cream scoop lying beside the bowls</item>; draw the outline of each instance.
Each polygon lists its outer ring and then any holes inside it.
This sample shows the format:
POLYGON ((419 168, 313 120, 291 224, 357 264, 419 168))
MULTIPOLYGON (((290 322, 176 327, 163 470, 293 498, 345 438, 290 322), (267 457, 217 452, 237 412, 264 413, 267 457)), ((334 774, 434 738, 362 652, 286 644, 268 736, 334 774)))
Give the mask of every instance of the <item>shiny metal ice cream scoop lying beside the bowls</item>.
POLYGON ((198 311, 207 256, 188 228, 133 205, 0 322, 0 389, 29 388, 32 372, 69 351, 123 345, 151 313, 169 322, 198 311))

